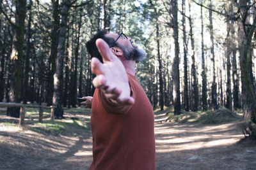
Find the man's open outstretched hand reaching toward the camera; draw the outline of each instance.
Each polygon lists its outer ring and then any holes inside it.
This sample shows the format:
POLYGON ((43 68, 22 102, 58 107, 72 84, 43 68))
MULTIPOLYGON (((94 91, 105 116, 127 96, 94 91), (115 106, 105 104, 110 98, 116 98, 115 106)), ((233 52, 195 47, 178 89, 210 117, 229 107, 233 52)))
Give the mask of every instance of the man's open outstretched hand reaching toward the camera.
POLYGON ((96 74, 93 79, 94 87, 102 89, 105 96, 114 103, 134 104, 124 65, 103 39, 97 39, 96 45, 104 63, 95 57, 92 58, 92 72, 96 74))

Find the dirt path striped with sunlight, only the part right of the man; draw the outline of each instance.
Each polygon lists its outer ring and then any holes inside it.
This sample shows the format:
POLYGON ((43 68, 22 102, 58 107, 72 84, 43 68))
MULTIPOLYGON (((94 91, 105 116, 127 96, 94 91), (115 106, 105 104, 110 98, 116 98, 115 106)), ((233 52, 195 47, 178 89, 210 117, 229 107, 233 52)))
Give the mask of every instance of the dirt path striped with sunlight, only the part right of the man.
POLYGON ((157 169, 255 169, 255 143, 237 144, 244 138, 241 125, 157 122, 157 169))

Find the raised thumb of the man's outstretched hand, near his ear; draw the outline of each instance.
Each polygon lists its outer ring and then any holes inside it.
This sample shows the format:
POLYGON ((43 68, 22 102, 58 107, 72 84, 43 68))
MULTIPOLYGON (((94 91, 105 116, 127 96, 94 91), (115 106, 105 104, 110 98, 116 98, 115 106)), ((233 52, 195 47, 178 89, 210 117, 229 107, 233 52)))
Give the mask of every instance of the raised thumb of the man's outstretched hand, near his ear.
POLYGON ((113 53, 109 49, 108 44, 103 39, 97 39, 96 46, 100 52, 100 55, 102 56, 102 59, 106 61, 111 61, 115 59, 115 55, 113 55, 113 53))

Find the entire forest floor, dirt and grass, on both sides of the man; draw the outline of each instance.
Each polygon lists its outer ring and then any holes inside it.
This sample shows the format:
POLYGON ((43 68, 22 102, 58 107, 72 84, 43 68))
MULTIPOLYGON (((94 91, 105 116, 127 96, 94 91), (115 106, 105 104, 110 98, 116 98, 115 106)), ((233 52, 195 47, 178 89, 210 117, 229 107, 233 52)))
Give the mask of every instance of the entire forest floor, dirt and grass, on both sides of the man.
MULTIPOLYGON (((55 121, 49 120, 49 115, 47 110, 39 124, 38 111, 28 109, 26 125, 19 127, 18 119, 6 117, 5 109, 0 108, 0 169, 90 167, 90 110, 65 109, 65 119, 55 121)), ((155 119, 157 169, 256 167, 256 142, 244 138, 239 115, 219 110, 173 116, 167 108, 156 111, 155 119), (167 117, 168 122, 164 121, 167 117)))

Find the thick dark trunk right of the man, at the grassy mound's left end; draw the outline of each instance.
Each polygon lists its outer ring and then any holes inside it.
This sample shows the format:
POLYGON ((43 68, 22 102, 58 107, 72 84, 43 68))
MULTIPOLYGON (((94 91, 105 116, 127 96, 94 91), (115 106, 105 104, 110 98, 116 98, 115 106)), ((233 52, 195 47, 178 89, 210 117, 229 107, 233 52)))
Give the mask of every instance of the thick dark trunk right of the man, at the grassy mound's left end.
POLYGON ((177 0, 170 0, 170 13, 172 18, 172 38, 175 44, 174 59, 172 63, 173 104, 174 115, 180 115, 180 75, 179 75, 179 25, 177 0))

